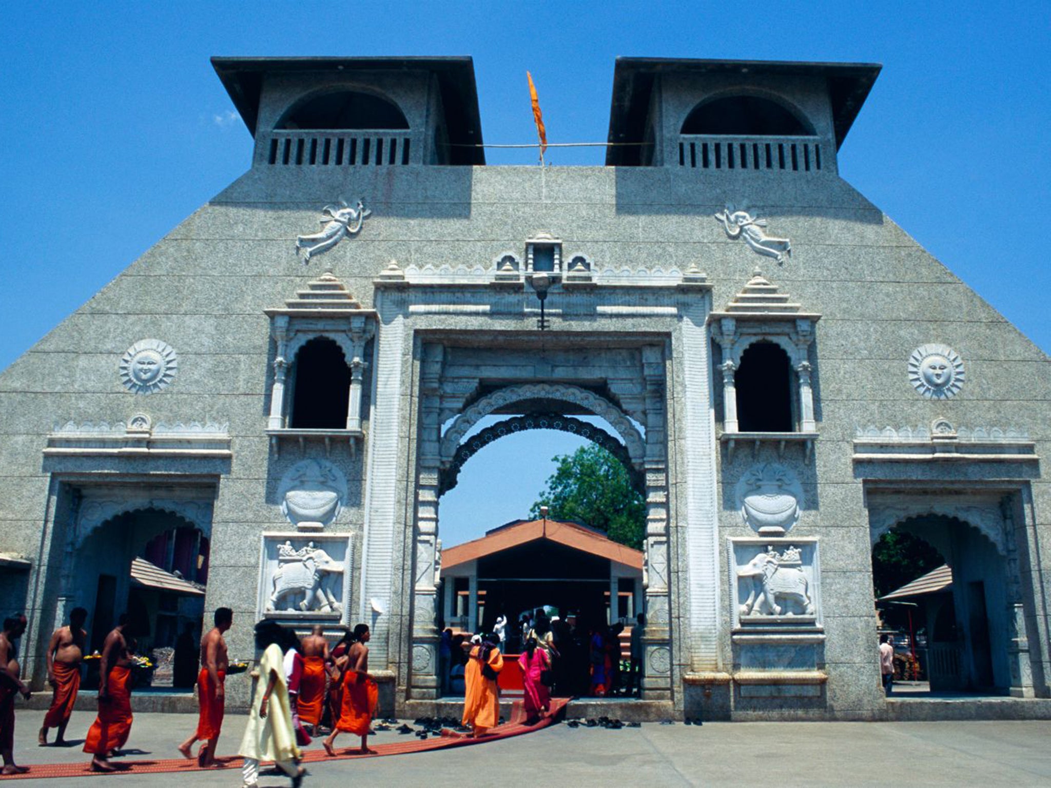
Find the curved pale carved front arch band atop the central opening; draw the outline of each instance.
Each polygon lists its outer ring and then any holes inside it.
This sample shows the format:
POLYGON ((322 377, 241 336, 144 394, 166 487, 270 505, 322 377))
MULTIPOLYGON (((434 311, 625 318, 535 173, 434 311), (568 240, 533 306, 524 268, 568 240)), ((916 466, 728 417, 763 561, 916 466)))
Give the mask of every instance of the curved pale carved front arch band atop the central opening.
POLYGON ((623 412, 598 394, 568 383, 509 386, 482 397, 457 416, 446 430, 446 434, 441 437, 441 461, 452 461, 460 440, 481 418, 499 408, 524 399, 554 399, 585 408, 610 422, 623 439, 632 462, 638 468, 642 466, 645 458, 645 441, 623 412))

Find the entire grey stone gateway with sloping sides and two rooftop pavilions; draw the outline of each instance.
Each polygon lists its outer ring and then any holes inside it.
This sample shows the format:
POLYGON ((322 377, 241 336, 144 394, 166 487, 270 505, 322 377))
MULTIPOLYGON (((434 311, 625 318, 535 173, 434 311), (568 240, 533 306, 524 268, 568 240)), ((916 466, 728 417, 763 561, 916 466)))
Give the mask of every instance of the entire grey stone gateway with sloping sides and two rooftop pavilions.
POLYGON ((487 167, 469 58, 213 65, 251 167, 0 376, 35 686, 73 606, 226 605, 236 657, 261 617, 369 623, 427 712, 441 496, 545 426, 644 493, 646 714, 892 716, 891 530, 952 567, 961 676, 1044 708, 1051 366, 840 178, 879 66, 620 59, 606 166, 487 167))

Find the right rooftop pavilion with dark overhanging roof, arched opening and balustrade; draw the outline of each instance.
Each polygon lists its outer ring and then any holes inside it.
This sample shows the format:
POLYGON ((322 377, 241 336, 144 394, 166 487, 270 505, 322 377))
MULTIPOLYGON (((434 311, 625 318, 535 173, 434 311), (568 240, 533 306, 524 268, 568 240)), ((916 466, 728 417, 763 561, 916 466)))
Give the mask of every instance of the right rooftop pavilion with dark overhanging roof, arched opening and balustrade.
POLYGON ((872 63, 618 58, 606 165, 836 172, 872 63))

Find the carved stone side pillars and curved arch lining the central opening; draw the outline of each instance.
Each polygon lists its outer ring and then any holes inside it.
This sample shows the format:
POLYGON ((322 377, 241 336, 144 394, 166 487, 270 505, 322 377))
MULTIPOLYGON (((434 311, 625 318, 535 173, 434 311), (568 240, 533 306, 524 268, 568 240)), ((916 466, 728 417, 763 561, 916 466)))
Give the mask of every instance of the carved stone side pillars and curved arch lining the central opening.
MULTIPOLYGON (((415 509, 415 557, 413 571, 413 635, 411 651, 410 698, 437 697, 438 664, 437 582, 439 542, 437 534, 438 499, 451 488, 448 474, 462 463, 482 443, 495 440, 500 429, 510 434, 516 418, 510 418, 478 433, 465 442, 463 437, 485 416, 504 410, 515 402, 551 402, 550 413, 519 416, 518 419, 559 420, 566 431, 576 422, 589 429, 588 437, 599 444, 619 447, 615 452, 644 491, 646 501, 646 541, 642 583, 645 595, 646 630, 643 636, 646 675, 643 681, 650 700, 671 699, 671 615, 668 604, 667 474, 664 445, 664 364, 657 347, 642 348, 640 377, 645 388, 645 435, 635 427, 624 411, 594 392, 569 383, 521 383, 488 394, 466 408, 441 434, 442 346, 425 344, 420 360, 420 434, 417 455, 415 509), (572 405, 604 419, 616 435, 588 422, 554 413, 557 403, 572 405), (483 436, 480 439, 478 436, 483 436), (489 438, 489 440, 486 440, 489 438), (476 440, 477 439, 477 440, 476 440), (478 442, 477 447, 472 441, 478 442), (442 475, 447 475, 444 482, 442 475)), ((521 426, 519 426, 521 427, 521 426)), ((554 427, 552 422, 548 429, 554 427)), ((543 429, 535 424, 532 429, 543 429)), ((557 427, 555 429, 558 429, 557 427)), ((580 429, 580 428, 578 428, 580 429)), ((609 447, 607 447, 609 448, 609 447)), ((455 477, 453 477, 455 478, 455 477)))

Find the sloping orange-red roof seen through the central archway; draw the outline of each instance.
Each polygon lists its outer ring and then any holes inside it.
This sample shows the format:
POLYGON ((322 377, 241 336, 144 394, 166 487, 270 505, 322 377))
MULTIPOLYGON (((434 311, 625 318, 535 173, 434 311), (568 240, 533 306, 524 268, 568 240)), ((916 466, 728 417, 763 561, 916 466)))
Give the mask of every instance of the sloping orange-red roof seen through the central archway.
POLYGON ((619 544, 576 523, 559 520, 529 520, 492 531, 480 539, 441 551, 442 572, 483 556, 491 556, 537 539, 548 539, 582 553, 642 569, 642 553, 619 544))

